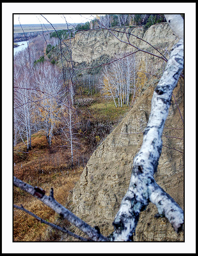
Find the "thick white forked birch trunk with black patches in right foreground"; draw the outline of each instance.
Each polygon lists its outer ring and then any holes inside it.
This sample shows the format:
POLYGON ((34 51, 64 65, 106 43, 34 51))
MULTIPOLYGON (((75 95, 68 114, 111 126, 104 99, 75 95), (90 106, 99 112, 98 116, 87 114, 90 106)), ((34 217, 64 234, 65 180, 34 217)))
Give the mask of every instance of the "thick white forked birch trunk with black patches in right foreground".
POLYGON ((173 33, 179 37, 179 42, 173 47, 166 69, 155 88, 152 98, 151 113, 148 125, 144 130, 142 147, 133 160, 130 185, 121 202, 121 207, 114 219, 114 233, 111 240, 132 241, 138 223, 139 213, 149 202, 154 203, 159 216, 169 219, 174 230, 178 232, 183 225, 183 210, 160 188, 153 175, 157 171, 158 160, 162 149, 162 132, 169 113, 172 91, 176 87, 183 70, 184 44, 181 20, 178 15, 167 15, 173 33))

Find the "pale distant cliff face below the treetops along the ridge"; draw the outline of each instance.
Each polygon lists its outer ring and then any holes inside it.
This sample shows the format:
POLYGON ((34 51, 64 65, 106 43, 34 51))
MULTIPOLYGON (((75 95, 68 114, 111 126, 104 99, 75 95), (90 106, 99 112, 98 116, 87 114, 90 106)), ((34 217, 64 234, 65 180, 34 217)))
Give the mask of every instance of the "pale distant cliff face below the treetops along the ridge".
MULTIPOLYGON (((120 40, 128 42, 142 50, 150 51, 154 54, 160 56, 159 52, 152 48, 148 43, 138 39, 135 36, 142 38, 143 40, 149 42, 156 47, 157 50, 161 51, 167 56, 167 51, 170 51, 173 44, 176 41, 176 37, 173 35, 169 25, 167 23, 158 23, 151 26, 147 31, 144 31, 142 26, 132 26, 124 28, 115 28, 117 31, 114 35, 120 40), (128 34, 128 39, 126 35, 122 32, 128 32, 135 36, 128 34)), ((137 51, 135 47, 129 44, 119 41, 113 34, 108 30, 96 29, 91 31, 82 31, 71 38, 71 50, 72 50, 72 60, 74 68, 87 68, 95 67, 99 64, 104 64, 109 62, 111 59, 116 59, 116 55, 120 53, 132 53, 137 51)), ((69 60, 70 55, 68 54, 68 49, 70 49, 70 39, 64 41, 65 45, 62 45, 62 53, 69 60)), ((135 54, 136 62, 140 63, 143 60, 147 64, 147 71, 157 70, 162 66, 162 60, 151 56, 149 54, 139 51, 135 54)), ((60 55, 60 48, 56 48, 51 52, 51 59, 58 59, 58 65, 62 66, 66 64, 65 58, 60 55)), ((88 70, 88 72, 96 73, 100 69, 88 70)), ((85 70, 76 70, 76 73, 86 72, 85 70)))

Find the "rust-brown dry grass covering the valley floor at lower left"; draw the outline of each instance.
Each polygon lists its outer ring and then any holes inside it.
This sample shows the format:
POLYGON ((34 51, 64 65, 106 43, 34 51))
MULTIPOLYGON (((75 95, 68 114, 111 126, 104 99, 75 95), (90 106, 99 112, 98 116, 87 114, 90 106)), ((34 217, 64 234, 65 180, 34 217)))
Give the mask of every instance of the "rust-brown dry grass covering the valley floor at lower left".
MULTIPOLYGON (((83 167, 75 166, 71 169, 70 150, 59 147, 61 143, 61 136, 55 136, 53 146, 49 149, 42 132, 32 135, 32 149, 28 154, 14 152, 14 175, 32 186, 43 188, 46 194, 54 188, 54 198, 64 206, 67 204, 69 191, 80 178, 83 167)), ((25 152, 25 145, 20 143, 16 148, 19 147, 19 150, 25 152)), ((66 220, 62 220, 48 206, 16 187, 14 204, 22 204, 24 208, 49 222, 68 225, 66 220)), ((59 236, 60 232, 52 230, 23 211, 14 209, 14 241, 53 241, 59 236)))

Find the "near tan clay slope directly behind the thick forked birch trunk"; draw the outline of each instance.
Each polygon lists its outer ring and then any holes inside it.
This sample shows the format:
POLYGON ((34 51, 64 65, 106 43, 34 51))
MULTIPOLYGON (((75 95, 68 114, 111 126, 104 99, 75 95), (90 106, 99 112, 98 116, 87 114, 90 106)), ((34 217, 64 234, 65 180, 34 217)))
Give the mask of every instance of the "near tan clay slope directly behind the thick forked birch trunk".
MULTIPOLYGON (((97 225, 101 233, 108 235, 113 231, 112 222, 122 197, 127 191, 133 157, 142 143, 142 128, 150 113, 154 86, 149 86, 130 112, 122 119, 116 129, 95 150, 84 169, 80 181, 69 196, 72 211, 90 225, 97 225)), ((183 114, 183 85, 180 82, 174 91, 177 103, 183 114)), ((169 116, 165 127, 182 128, 178 109, 172 98, 169 116)), ((164 135, 183 138, 183 130, 164 129, 164 135)), ((168 192, 183 208, 183 140, 163 137, 162 154, 159 159, 157 183, 168 192), (169 148, 168 148, 169 147, 169 148), (178 149, 176 151, 174 149, 178 149)), ((155 219, 157 209, 149 204, 141 213, 136 228, 137 241, 181 241, 165 219, 155 219)))

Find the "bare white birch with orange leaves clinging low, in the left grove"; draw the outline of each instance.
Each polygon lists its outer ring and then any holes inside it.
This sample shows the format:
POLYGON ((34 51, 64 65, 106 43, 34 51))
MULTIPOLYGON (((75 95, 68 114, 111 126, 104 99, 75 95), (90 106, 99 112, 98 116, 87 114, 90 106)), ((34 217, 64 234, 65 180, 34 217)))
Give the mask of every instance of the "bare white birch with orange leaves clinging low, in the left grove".
POLYGON ((54 129, 63 109, 62 75, 56 66, 44 62, 37 66, 34 83, 38 88, 37 98, 41 99, 37 114, 42 120, 42 129, 45 130, 48 144, 51 146, 54 129))

